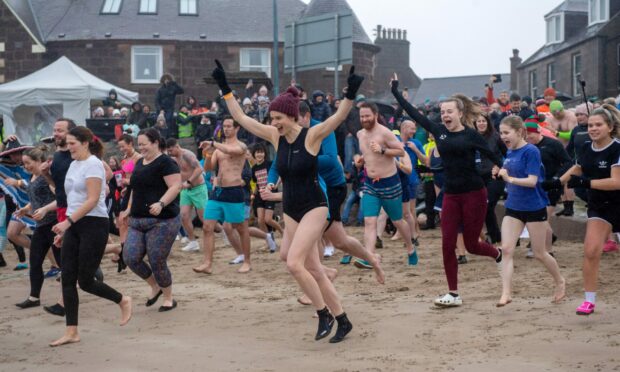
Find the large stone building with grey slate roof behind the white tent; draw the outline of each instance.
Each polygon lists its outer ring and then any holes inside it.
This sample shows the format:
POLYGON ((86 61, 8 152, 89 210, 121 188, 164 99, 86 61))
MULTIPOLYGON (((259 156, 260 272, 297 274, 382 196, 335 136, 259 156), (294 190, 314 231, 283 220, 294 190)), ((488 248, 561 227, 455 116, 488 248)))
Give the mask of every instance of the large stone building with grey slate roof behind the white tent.
MULTIPOLYGON (((277 4, 282 90, 290 82, 290 75, 283 73, 284 26, 301 17, 351 8, 346 0, 277 4)), ((408 41, 378 38, 374 44, 357 17, 353 27, 353 63, 367 77, 362 93, 372 96, 377 91, 378 45, 407 44, 408 54, 408 41)), ((231 74, 241 73, 243 79, 234 81, 233 89, 243 92, 248 77, 271 81, 272 48, 271 0, 0 0, 0 83, 64 55, 110 83, 139 92, 145 103, 153 103, 164 72, 176 77, 186 95, 204 102, 217 95, 216 86, 202 81, 215 58, 231 74)), ((348 67, 339 72, 341 87, 348 67)), ((334 72, 301 72, 297 82, 308 90, 331 92, 334 72)), ((380 90, 383 87, 382 82, 380 90)))

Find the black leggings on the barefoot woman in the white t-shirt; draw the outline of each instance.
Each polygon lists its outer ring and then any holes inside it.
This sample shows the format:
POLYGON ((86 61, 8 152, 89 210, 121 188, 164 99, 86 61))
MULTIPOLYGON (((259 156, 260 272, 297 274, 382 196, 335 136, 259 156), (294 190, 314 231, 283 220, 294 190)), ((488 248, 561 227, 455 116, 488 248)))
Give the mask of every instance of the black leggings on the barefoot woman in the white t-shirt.
POLYGON ((117 304, 123 299, 122 294, 94 278, 108 242, 108 223, 107 217, 87 216, 65 231, 61 249, 61 278, 67 326, 78 324, 78 283, 82 290, 117 304))

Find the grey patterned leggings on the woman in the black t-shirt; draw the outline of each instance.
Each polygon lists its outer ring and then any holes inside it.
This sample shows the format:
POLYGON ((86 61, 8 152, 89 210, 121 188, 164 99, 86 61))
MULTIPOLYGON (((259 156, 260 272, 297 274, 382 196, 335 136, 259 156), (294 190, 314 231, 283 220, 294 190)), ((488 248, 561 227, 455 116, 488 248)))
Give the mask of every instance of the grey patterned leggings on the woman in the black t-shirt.
POLYGON ((153 275, 160 288, 169 287, 172 274, 167 260, 180 227, 179 216, 170 219, 130 218, 123 258, 131 271, 144 280, 153 275), (146 255, 150 266, 144 262, 146 255))

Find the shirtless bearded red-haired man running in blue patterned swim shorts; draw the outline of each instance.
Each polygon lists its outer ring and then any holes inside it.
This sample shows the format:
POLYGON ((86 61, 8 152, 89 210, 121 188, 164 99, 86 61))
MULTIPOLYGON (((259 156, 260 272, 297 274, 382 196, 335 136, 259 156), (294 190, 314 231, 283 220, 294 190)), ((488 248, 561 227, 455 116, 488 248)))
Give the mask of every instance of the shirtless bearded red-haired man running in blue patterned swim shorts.
MULTIPOLYGON (((377 217, 383 208, 405 241, 407 253, 413 257, 411 231, 403 220, 402 187, 396 169, 396 157, 404 157, 403 144, 377 121, 378 109, 372 103, 359 106, 362 129, 357 132, 360 150, 365 162, 366 182, 362 186, 364 211, 364 243, 369 252, 375 252, 377 217)), ((355 265, 371 268, 369 262, 356 260, 355 265)))

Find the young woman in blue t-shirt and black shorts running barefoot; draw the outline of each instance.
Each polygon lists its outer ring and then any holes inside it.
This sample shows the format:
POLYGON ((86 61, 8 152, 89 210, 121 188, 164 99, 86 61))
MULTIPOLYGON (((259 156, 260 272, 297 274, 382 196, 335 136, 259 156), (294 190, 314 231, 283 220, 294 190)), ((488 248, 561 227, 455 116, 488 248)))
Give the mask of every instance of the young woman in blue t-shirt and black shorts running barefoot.
POLYGON ((524 139, 525 126, 519 116, 508 116, 500 123, 500 135, 508 148, 506 160, 498 176, 506 182, 508 198, 502 221, 502 296, 498 307, 512 302, 513 257, 524 227, 530 234, 534 257, 540 260, 555 281, 554 303, 566 295, 566 282, 555 258, 546 249, 548 199, 542 189, 545 179, 540 151, 524 139))

